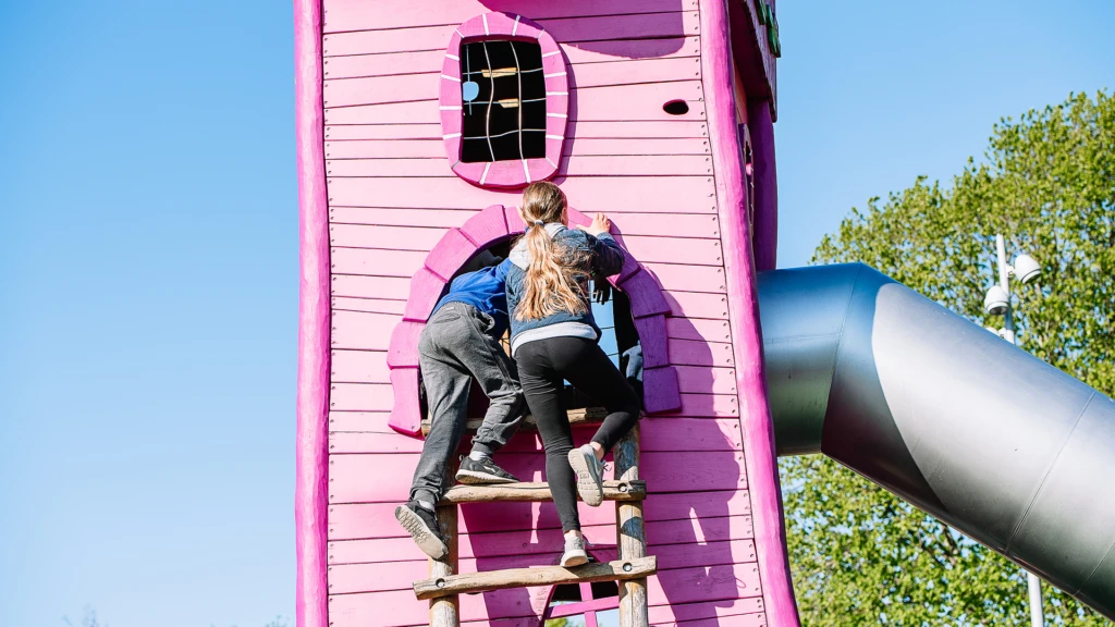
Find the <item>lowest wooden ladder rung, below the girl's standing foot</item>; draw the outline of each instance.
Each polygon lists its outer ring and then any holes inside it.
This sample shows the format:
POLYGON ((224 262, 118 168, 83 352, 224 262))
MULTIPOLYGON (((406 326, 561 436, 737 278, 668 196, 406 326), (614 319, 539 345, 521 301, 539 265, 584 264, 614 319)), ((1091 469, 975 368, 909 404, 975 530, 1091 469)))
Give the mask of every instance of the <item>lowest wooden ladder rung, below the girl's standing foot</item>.
POLYGON ((560 566, 510 568, 507 570, 450 575, 415 581, 415 596, 418 599, 436 599, 449 595, 471 595, 504 588, 551 586, 554 583, 586 583, 590 581, 623 581, 647 577, 657 571, 658 558, 655 556, 630 560, 586 563, 573 568, 562 568, 560 566))

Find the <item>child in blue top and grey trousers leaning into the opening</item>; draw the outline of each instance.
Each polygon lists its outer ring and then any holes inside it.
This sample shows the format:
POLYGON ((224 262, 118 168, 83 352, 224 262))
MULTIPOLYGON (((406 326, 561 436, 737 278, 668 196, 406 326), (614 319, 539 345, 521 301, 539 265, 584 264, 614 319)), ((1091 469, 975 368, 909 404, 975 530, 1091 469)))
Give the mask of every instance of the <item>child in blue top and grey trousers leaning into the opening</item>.
MULTIPOLYGON (((500 260, 484 252, 481 262, 485 261, 500 260)), ((500 346, 508 322, 505 281, 510 268, 511 262, 503 260, 454 279, 418 340, 430 430, 415 469, 410 500, 395 509, 395 518, 434 559, 448 552, 434 505, 442 498, 445 471, 465 430, 473 379, 491 403, 456 479, 473 484, 518 481, 492 461, 492 453, 507 443, 523 414, 515 364, 500 346)))

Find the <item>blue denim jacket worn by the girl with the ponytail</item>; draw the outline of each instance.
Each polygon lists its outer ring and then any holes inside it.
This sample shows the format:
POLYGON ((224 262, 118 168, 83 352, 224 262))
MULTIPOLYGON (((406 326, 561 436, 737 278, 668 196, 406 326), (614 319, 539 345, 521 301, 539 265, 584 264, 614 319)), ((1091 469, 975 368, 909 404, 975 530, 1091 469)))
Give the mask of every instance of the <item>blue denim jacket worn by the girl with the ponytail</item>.
MULTIPOLYGON (((623 268, 623 250, 615 240, 608 233, 601 233, 594 238, 580 229, 569 229, 563 224, 551 223, 545 225, 546 232, 553 239, 554 244, 568 247, 571 250, 590 253, 589 266, 582 269, 578 277, 581 284, 581 293, 584 295, 584 314, 570 314, 561 311, 545 318, 535 320, 518 320, 514 315, 511 317, 511 354, 527 341, 545 339, 551 337, 583 337, 597 341, 600 339, 600 327, 592 318, 592 307, 589 303, 589 279, 597 277, 611 277, 618 274, 623 268)), ((526 268, 531 264, 531 252, 526 248, 526 240, 522 239, 511 251, 508 257, 512 266, 507 271, 507 310, 514 312, 523 298, 523 280, 526 278, 526 268)))

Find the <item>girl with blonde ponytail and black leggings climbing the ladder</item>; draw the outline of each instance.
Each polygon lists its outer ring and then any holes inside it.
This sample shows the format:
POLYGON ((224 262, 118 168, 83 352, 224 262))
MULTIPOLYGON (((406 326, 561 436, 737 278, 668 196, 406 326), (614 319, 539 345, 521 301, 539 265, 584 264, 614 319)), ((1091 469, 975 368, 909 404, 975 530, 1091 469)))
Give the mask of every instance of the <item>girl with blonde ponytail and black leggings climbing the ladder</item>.
POLYGON ((600 328, 589 306, 589 279, 623 267, 623 252, 598 213, 592 224, 570 229, 565 194, 549 182, 523 191, 520 215, 526 234, 511 251, 507 307, 511 350, 526 404, 546 451, 546 480, 565 533, 562 566, 588 561, 576 495, 591 507, 603 500, 603 459, 639 419, 639 397, 597 345, 600 328), (573 448, 564 382, 602 403, 608 417, 592 442, 573 448))

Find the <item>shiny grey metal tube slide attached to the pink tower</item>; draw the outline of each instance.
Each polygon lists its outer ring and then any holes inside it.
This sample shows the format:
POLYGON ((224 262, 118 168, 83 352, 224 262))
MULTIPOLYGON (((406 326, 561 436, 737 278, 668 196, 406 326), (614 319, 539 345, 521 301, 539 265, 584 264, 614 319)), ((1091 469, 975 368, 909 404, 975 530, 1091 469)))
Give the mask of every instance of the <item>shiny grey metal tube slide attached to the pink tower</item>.
POLYGON ((1115 619, 1115 403, 859 263, 759 274, 779 455, 824 453, 1115 619))

